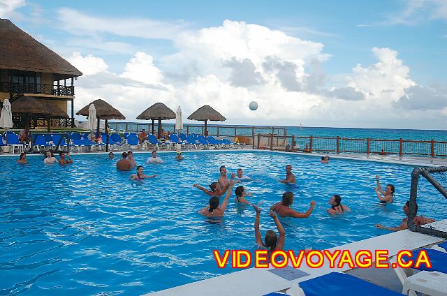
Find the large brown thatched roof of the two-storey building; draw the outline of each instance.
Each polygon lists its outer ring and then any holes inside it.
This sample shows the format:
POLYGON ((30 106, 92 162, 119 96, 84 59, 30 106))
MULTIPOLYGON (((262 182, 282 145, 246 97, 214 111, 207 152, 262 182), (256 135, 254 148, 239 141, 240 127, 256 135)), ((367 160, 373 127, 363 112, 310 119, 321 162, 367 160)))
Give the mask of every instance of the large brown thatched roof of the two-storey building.
POLYGON ((57 80, 82 73, 12 22, 0 19, 0 69, 54 73, 57 80))

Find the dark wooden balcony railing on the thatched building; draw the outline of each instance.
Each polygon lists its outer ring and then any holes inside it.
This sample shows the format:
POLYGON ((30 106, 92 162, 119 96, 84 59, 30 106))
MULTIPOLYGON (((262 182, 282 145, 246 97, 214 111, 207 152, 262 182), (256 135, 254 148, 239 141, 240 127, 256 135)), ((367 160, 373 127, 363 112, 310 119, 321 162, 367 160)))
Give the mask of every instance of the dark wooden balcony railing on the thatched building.
POLYGON ((75 87, 53 84, 0 82, 0 91, 12 94, 51 94, 54 96, 74 96, 75 87))

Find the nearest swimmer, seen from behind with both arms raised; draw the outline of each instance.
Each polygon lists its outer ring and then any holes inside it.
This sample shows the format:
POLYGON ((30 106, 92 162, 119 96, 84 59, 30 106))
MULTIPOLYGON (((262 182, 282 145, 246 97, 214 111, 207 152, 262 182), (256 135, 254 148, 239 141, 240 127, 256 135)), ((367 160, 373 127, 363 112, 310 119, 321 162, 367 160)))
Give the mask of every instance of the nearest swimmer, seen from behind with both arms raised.
POLYGON ((256 207, 256 205, 254 205, 253 208, 256 211, 256 218, 254 219, 254 235, 256 239, 256 244, 264 248, 267 248, 270 251, 270 253, 272 253, 273 251, 284 249, 284 242, 286 241, 286 231, 282 227, 281 222, 279 222, 277 215, 273 211, 270 211, 268 213, 269 216, 272 217, 274 223, 277 225, 277 230, 279 232, 279 239, 277 234, 273 230, 267 230, 263 242, 263 240, 261 239, 261 231, 259 230, 261 209, 256 207))

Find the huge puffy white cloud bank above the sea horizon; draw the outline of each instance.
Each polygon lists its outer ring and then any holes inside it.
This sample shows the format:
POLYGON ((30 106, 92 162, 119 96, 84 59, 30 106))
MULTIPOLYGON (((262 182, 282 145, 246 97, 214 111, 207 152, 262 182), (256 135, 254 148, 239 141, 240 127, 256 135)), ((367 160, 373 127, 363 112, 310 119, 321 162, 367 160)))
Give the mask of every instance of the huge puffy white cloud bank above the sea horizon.
MULTIPOLYGON (((78 79, 77 107, 102 97, 128 121, 162 102, 173 110, 182 106, 185 117, 201 105, 212 105, 228 124, 420 128, 412 124, 424 122, 423 112, 399 112, 409 105, 402 97, 416 82, 398 52, 389 48, 374 47, 376 63, 359 64, 344 83, 328 90, 325 83, 332 78, 321 70, 328 58, 321 43, 231 21, 185 32, 174 42, 177 52, 156 61, 145 52, 135 53, 121 75, 108 72, 99 57, 73 54, 94 73, 78 79), (259 105, 255 112, 248 108, 250 101, 259 105)), ((420 96, 409 99, 414 103, 420 96)), ((430 124, 444 122, 439 118, 430 124)))

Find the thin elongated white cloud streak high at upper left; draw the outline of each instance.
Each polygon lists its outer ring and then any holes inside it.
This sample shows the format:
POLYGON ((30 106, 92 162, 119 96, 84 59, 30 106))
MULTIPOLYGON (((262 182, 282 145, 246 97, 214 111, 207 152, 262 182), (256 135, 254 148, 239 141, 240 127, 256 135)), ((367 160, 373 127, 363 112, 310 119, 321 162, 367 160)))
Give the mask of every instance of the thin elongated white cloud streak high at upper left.
POLYGON ((162 22, 138 17, 96 17, 71 8, 60 8, 57 10, 57 17, 62 29, 80 36, 113 34, 147 39, 173 39, 188 27, 182 20, 162 22))

